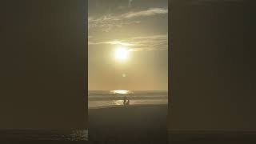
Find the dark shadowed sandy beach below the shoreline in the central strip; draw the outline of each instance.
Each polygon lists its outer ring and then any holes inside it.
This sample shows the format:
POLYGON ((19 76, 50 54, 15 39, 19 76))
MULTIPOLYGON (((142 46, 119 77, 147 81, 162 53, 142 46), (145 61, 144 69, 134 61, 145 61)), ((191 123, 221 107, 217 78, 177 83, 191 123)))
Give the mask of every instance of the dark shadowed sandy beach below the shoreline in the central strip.
POLYGON ((89 142, 167 143, 167 105, 89 109, 89 142))

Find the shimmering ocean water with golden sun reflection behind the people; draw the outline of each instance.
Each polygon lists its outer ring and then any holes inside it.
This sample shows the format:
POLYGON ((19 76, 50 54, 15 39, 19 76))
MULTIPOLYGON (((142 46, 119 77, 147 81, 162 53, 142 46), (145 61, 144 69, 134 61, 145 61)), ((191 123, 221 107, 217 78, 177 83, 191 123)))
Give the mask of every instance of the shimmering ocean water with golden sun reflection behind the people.
POLYGON ((122 106, 124 97, 130 105, 168 104, 168 92, 160 90, 89 90, 89 109, 122 106))

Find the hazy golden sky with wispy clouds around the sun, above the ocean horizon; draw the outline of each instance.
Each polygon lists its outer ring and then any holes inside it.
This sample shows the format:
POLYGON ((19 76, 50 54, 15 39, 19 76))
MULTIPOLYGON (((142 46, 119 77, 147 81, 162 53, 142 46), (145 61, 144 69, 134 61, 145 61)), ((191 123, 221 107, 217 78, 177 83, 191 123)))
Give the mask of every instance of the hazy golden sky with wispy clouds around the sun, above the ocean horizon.
POLYGON ((88 89, 168 90, 168 0, 89 0, 88 7, 88 89), (116 58, 119 49, 127 58, 116 58))

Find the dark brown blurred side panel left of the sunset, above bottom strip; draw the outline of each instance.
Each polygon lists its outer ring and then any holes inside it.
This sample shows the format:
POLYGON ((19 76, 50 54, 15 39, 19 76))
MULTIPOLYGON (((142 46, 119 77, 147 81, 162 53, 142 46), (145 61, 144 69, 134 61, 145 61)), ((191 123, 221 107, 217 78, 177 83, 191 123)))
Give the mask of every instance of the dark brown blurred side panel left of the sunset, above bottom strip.
POLYGON ((1 1, 1 130, 87 127, 86 3, 1 1))

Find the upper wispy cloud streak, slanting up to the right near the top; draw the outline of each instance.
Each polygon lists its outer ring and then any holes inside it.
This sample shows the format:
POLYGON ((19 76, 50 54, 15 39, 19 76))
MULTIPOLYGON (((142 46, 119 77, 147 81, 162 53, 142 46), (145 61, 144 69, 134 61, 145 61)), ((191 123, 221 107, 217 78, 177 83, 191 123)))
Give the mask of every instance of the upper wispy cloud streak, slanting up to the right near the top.
POLYGON ((168 14, 166 8, 150 8, 148 10, 141 10, 136 12, 128 12, 125 14, 112 15, 107 14, 99 18, 88 18, 89 30, 99 28, 102 31, 109 32, 115 27, 122 27, 125 25, 138 24, 140 21, 130 20, 131 18, 150 17, 157 14, 168 14))

